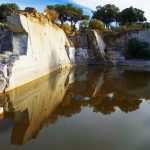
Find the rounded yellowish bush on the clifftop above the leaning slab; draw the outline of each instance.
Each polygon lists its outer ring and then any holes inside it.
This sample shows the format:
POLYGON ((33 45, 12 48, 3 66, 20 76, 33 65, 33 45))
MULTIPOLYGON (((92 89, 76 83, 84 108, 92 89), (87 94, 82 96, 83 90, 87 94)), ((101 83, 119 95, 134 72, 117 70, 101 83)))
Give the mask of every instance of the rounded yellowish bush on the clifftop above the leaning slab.
POLYGON ((89 28, 97 30, 105 30, 103 23, 97 19, 93 19, 89 22, 89 28))

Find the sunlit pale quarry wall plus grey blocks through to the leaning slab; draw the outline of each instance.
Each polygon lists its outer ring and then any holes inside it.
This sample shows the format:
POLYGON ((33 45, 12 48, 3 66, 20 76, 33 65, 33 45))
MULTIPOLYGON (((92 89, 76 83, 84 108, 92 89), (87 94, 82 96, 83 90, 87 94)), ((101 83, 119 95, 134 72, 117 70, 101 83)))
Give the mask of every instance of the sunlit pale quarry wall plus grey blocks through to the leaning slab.
POLYGON ((0 34, 3 52, 0 54, 0 93, 58 68, 105 63, 106 45, 99 32, 89 30, 79 35, 75 49, 75 43, 52 23, 49 15, 47 11, 42 15, 27 8, 7 18, 9 31, 0 34))

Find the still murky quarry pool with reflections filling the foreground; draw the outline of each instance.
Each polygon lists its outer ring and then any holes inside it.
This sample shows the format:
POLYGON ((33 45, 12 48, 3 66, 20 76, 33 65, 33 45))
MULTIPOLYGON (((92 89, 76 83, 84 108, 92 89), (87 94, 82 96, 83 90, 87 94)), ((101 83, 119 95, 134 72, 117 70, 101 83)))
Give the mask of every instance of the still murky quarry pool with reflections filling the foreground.
POLYGON ((149 150, 150 72, 58 70, 0 95, 3 150, 149 150))

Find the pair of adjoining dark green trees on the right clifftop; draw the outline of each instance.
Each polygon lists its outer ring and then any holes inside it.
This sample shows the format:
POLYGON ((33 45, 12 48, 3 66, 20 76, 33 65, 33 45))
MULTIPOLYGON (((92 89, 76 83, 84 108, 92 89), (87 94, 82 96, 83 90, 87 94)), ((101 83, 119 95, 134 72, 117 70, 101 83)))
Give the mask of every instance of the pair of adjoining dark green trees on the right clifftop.
POLYGON ((111 22, 117 22, 119 25, 132 25, 133 23, 142 23, 147 19, 144 16, 144 11, 138 8, 129 7, 122 11, 112 4, 97 6, 96 11, 93 11, 93 19, 101 20, 107 28, 111 22))

